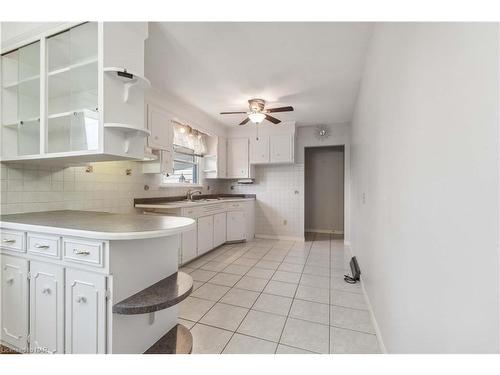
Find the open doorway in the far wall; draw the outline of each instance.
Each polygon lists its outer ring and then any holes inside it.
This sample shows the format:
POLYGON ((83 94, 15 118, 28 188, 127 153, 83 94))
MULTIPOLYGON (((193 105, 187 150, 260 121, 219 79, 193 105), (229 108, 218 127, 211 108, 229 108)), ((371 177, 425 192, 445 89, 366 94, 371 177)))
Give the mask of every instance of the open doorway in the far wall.
POLYGON ((344 146, 305 149, 305 232, 344 238, 344 146))

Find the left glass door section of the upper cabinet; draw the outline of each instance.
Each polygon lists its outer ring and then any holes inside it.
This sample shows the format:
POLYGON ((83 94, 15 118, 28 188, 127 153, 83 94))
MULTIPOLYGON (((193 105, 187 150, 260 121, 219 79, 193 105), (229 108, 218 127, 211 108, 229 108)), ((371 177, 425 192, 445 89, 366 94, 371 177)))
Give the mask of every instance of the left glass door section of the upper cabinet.
POLYGON ((40 153, 40 42, 2 55, 2 156, 40 153))

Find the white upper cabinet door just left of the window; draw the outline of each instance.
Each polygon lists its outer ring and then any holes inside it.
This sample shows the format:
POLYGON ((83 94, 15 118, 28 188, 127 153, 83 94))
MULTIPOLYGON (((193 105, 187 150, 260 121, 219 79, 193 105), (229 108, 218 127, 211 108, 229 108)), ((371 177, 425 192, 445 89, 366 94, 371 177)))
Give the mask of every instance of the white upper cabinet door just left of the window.
POLYGON ((148 104, 148 146, 159 150, 172 150, 174 128, 172 116, 153 104, 148 104))

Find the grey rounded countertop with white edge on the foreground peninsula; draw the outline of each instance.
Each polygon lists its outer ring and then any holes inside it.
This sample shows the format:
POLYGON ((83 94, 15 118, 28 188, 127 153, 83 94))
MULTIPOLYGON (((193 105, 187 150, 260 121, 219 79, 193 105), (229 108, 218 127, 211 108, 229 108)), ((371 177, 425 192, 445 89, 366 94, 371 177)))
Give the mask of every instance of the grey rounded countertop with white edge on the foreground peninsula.
POLYGON ((189 231, 195 221, 186 217, 111 214, 92 211, 47 211, 0 216, 0 228, 76 236, 99 240, 168 237, 189 231))

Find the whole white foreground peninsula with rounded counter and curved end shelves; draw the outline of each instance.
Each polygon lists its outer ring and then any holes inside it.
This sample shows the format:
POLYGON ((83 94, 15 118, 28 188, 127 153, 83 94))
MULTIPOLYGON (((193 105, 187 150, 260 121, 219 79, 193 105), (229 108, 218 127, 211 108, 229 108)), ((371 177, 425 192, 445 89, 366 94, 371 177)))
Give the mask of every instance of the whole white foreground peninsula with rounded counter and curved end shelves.
POLYGON ((189 353, 177 304, 185 217, 50 211, 0 216, 1 344, 24 353, 189 353))

